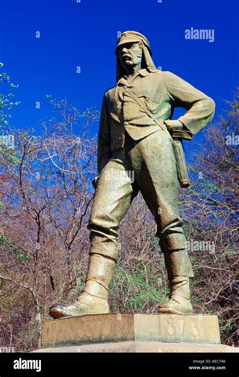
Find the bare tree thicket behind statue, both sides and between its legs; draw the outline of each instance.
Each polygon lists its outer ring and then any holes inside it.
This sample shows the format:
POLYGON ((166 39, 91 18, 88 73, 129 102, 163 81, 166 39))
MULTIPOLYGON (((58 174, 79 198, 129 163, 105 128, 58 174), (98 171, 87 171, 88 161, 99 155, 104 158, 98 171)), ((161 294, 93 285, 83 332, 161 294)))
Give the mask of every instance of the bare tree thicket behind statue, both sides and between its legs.
MULTIPOLYGON (((80 114, 66 99, 49 98, 56 117, 42 123, 40 135, 16 131, 14 153, 5 147, 0 154, 1 174, 8 180, 0 180, 2 344, 22 351, 39 347, 49 306, 79 295, 88 266, 86 227, 94 195, 91 180, 97 175, 96 138, 90 129, 99 113, 88 109, 80 114)), ((222 342, 236 345, 237 145, 228 143, 227 136, 238 133, 237 98, 228 107, 205 130, 190 167, 192 186, 180 190, 180 207, 195 273, 195 312, 218 314, 222 342)), ((156 313, 165 301, 168 282, 154 233, 153 217, 138 195, 120 227, 112 311, 156 313)))

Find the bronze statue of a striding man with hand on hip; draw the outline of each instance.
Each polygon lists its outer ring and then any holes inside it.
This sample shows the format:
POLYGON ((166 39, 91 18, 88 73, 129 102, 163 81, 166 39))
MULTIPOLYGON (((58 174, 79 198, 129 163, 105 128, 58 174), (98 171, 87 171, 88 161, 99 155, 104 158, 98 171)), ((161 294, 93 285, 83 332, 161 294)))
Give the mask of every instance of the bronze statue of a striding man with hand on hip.
POLYGON ((85 287, 72 304, 52 305, 53 318, 110 312, 108 288, 118 259, 117 230, 139 191, 153 214, 169 280, 170 299, 159 305, 158 312, 193 312, 189 280, 194 274, 178 209, 171 131, 197 134, 212 120, 215 103, 173 73, 157 70, 144 35, 124 32, 115 53, 117 84, 104 93, 101 109, 85 287), (171 120, 174 107, 187 112, 171 120), (129 177, 132 171, 134 180, 129 177))

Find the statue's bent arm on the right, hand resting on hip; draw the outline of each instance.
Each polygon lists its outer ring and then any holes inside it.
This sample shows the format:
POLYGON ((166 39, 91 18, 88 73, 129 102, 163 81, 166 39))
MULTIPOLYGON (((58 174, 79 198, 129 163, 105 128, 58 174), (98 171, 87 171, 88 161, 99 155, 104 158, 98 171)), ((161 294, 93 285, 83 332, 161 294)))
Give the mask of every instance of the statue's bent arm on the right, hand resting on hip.
MULTIPOLYGON (((171 105, 184 107, 187 110, 177 121, 181 122, 183 128, 196 135, 211 122, 215 112, 214 100, 173 73, 162 72, 162 74, 171 105)), ((173 128, 172 122, 177 121, 165 121, 165 124, 168 126, 171 122, 173 128)))

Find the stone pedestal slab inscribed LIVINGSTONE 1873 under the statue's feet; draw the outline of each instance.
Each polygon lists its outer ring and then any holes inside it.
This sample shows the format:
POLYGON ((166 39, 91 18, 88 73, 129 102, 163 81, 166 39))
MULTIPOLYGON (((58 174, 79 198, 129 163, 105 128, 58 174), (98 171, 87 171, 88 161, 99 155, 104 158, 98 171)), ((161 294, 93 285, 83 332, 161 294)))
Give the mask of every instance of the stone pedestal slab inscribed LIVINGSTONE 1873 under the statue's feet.
POLYGON ((220 344, 218 319, 202 314, 109 313, 52 319, 42 325, 43 348, 130 341, 220 344))

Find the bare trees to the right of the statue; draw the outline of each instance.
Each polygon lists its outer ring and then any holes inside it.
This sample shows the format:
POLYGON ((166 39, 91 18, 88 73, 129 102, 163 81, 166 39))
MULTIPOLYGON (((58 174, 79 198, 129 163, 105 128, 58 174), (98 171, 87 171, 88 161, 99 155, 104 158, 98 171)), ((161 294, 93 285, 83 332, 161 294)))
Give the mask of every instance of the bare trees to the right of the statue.
POLYGON ((222 341, 228 345, 238 343, 238 144, 233 142, 239 133, 238 104, 236 93, 225 114, 205 130, 191 166, 192 187, 181 193, 196 272, 193 302, 203 313, 217 313, 222 341), (194 246, 211 242, 212 247, 192 249, 192 241, 194 246))

